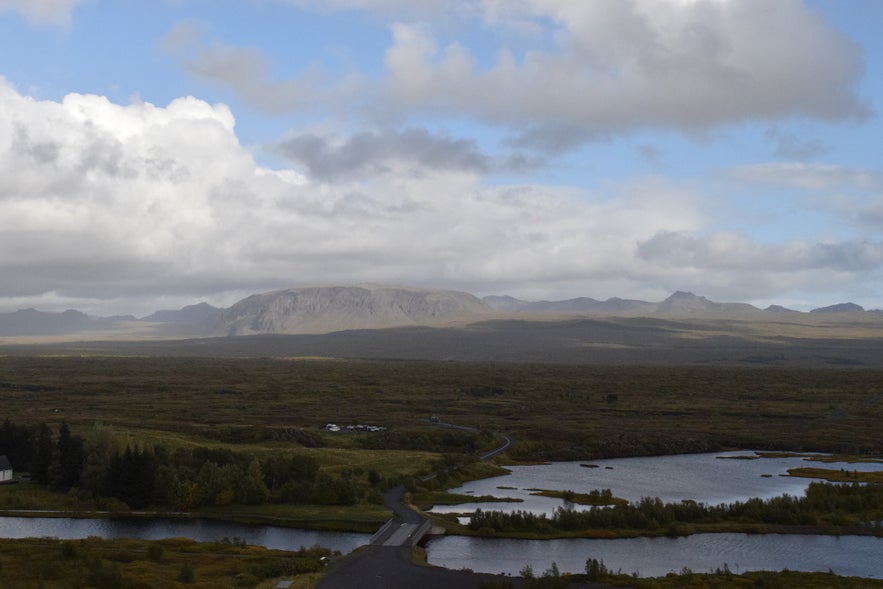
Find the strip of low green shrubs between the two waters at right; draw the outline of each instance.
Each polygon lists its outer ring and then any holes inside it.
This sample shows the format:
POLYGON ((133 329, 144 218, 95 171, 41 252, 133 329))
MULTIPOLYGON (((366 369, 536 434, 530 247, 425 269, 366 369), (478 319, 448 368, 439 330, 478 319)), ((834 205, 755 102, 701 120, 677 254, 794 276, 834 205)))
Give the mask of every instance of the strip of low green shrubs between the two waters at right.
POLYGON ((587 529, 630 529, 678 533, 679 524, 771 524, 787 526, 867 525, 875 533, 883 520, 883 485, 813 482, 803 497, 781 495, 730 504, 663 503, 657 498, 609 507, 559 507, 551 516, 518 510, 476 510, 468 527, 479 532, 554 533, 587 529))

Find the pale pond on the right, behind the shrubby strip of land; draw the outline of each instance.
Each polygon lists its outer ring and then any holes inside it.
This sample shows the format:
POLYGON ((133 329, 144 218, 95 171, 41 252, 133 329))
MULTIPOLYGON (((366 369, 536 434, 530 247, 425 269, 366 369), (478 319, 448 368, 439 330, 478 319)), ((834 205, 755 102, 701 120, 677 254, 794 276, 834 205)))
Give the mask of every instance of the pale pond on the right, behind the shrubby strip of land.
POLYGON ((754 460, 734 458, 738 456, 755 454, 747 451, 717 452, 509 466, 507 468, 512 471, 511 474, 472 481, 452 489, 451 492, 513 497, 522 502, 439 505, 431 511, 471 513, 480 508, 485 511, 525 510, 551 515, 557 507, 564 505, 560 499, 533 496, 530 489, 569 489, 576 492, 610 489, 615 496, 628 501, 638 501, 642 497, 659 497, 664 502, 690 499, 717 505, 745 501, 752 497, 768 499, 785 493, 802 496, 811 479, 783 476, 789 468, 815 466, 858 471, 883 470, 883 464, 880 463, 827 464, 795 456, 754 460), (581 466, 588 464, 593 467, 581 466))

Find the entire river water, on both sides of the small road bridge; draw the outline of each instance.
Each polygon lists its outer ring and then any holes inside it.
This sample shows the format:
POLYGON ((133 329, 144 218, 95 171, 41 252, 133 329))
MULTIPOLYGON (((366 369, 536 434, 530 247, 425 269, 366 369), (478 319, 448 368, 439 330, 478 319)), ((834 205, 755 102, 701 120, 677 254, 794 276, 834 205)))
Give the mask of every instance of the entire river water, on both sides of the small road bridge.
MULTIPOLYGON (((530 489, 586 492, 609 488, 635 501, 644 496, 664 501, 692 499, 730 503, 783 493, 802 495, 809 479, 784 475, 788 468, 822 466, 848 470, 881 470, 881 464, 830 464, 800 457, 750 459, 751 452, 624 458, 510 467, 511 474, 472 481, 455 492, 521 498, 523 503, 483 503, 439 507, 433 511, 528 509, 551 513, 561 500, 532 496, 530 489), (503 488, 500 488, 503 487, 503 488)), ((198 541, 241 539, 281 550, 322 545, 342 553, 367 544, 368 534, 317 532, 187 519, 72 519, 0 517, 0 537, 51 536, 61 539, 100 536, 160 539, 187 537, 198 541)), ((883 539, 862 536, 795 536, 700 534, 682 538, 621 540, 509 540, 446 536, 427 545, 429 562, 452 569, 517 574, 525 564, 542 573, 552 562, 562 572, 582 572, 587 558, 603 560, 616 571, 641 576, 665 575, 686 567, 707 572, 729 567, 747 570, 828 571, 838 575, 883 578, 883 539)))

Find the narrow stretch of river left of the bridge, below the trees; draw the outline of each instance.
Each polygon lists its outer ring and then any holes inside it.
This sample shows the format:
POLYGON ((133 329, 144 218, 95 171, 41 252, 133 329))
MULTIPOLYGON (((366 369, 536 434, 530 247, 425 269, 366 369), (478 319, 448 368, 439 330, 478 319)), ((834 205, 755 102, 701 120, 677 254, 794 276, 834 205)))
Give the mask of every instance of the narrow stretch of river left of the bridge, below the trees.
POLYGON ((371 538, 369 534, 320 532, 217 520, 0 517, 0 538, 44 536, 61 540, 89 536, 142 540, 191 538, 198 542, 238 538, 247 544, 277 550, 299 550, 302 547, 319 545, 343 554, 367 544, 371 538))

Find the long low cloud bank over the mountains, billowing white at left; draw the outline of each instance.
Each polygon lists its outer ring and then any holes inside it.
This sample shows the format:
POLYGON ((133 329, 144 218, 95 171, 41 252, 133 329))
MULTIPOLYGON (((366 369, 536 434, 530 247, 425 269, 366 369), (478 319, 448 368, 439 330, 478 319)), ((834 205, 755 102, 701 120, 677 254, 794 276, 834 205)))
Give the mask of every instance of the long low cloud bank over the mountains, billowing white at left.
POLYGON ((664 178, 603 192, 490 185, 493 158, 422 129, 311 140, 314 156, 308 141, 287 145, 304 169, 269 169, 224 105, 38 101, 0 82, 0 310, 148 314, 157 301, 358 282, 751 298, 830 289, 883 263, 874 240, 704 236, 703 196, 664 178))

